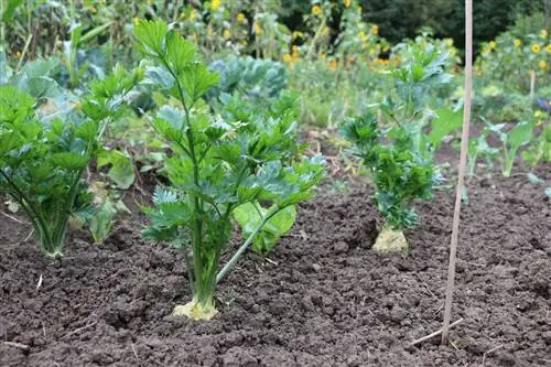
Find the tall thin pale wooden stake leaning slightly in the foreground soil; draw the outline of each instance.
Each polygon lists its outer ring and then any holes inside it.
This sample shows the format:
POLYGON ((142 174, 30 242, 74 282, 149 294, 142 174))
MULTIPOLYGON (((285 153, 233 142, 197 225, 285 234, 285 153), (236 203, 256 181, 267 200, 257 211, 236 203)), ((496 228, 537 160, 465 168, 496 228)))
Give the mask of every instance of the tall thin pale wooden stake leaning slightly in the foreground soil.
POLYGON ((455 209, 453 213, 452 240, 450 245, 450 266, 447 269, 444 325, 442 326, 442 344, 447 343, 450 320, 452 319, 453 290, 455 287, 455 258, 457 253, 457 237, 460 233, 461 197, 462 197, 463 185, 465 182, 465 171, 467 165, 472 89, 473 89, 473 0, 465 0, 465 100, 463 106, 463 134, 461 137, 460 172, 457 177, 457 188, 455 193, 455 209))

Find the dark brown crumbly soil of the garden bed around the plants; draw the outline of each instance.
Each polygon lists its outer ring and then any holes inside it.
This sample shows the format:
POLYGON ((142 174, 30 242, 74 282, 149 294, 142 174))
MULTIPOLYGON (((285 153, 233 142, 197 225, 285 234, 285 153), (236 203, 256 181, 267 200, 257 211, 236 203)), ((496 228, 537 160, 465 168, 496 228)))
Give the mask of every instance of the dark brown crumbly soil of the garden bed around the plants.
MULTIPOLYGON (((549 166, 539 175, 551 180, 549 166)), ((369 247, 367 188, 325 192, 262 263, 219 287, 210 322, 171 316, 190 299, 181 257, 140 238, 139 215, 102 245, 85 234, 44 259, 0 220, 0 366, 551 366, 551 205, 526 176, 477 180, 463 207, 452 345, 441 327, 453 191, 418 205, 411 255, 369 247), (29 348, 19 347, 20 343, 29 348)))

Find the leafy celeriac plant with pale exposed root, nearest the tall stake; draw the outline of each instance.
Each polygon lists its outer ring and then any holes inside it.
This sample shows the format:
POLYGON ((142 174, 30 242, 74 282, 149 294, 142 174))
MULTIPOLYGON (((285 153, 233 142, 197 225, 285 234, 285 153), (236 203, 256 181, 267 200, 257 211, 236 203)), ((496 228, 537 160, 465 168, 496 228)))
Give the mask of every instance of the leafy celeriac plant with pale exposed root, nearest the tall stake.
POLYGON ((446 109, 439 111, 441 118, 432 119, 435 114, 426 101, 432 88, 451 79, 444 73, 447 56, 434 47, 412 46, 403 66, 390 73, 396 100, 389 97, 377 105, 388 127, 380 129, 379 119, 370 111, 348 119, 342 127, 353 153, 371 174, 377 187, 375 201, 386 219, 375 250, 409 251, 402 230, 417 223, 413 202, 432 197, 441 182, 433 163, 434 150, 462 121, 458 112, 446 109), (431 131, 424 133, 428 126, 431 131))

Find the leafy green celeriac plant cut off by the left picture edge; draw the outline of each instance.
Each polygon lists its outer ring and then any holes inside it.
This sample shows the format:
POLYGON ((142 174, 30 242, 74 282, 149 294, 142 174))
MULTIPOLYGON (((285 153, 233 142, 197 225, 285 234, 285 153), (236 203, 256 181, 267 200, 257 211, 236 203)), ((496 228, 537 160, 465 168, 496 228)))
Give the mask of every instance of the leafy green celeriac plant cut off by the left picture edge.
POLYGON ((47 257, 63 255, 69 216, 90 199, 83 173, 139 78, 139 72, 117 68, 91 85, 82 101, 84 116, 65 120, 40 120, 33 97, 0 86, 0 192, 23 208, 47 257))

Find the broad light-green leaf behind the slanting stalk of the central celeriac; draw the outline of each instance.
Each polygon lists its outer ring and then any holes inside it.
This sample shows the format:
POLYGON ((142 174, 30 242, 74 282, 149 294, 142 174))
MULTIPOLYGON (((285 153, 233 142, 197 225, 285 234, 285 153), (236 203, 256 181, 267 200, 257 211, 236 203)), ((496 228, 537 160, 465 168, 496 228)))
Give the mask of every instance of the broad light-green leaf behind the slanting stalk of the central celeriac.
MULTIPOLYGON (((233 214, 234 218, 242 228, 244 237, 248 238, 252 235, 255 228, 260 226, 264 217, 271 211, 273 211, 273 208, 264 208, 259 203, 245 203, 236 207, 233 214)), ((273 215, 261 227, 260 231, 252 241, 252 249, 258 253, 266 256, 276 247, 281 236, 291 229, 295 218, 296 208, 294 205, 290 205, 279 211, 278 214, 273 215)))

